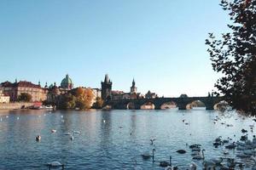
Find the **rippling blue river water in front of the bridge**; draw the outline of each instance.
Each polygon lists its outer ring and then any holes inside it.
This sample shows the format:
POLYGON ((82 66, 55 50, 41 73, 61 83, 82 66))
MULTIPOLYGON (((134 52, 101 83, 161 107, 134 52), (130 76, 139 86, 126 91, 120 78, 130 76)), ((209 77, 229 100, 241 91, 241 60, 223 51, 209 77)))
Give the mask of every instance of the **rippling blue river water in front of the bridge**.
MULTIPOLYGON (((19 170, 48 169, 45 163, 49 161, 60 161, 66 169, 164 169, 158 161, 168 161, 169 156, 173 165, 186 169, 195 161, 186 144, 201 144, 206 159, 224 157, 224 147, 214 148, 212 141, 218 136, 235 141, 240 139, 241 128, 249 130, 248 125, 253 125, 252 118, 234 111, 223 115, 202 109, 1 111, 0 119, 0 169, 19 170), (213 123, 216 116, 221 120, 213 123), (73 140, 64 134, 72 131, 80 132, 73 134, 73 140), (35 140, 38 134, 40 142, 35 140), (152 138, 154 144, 150 144, 152 138), (155 162, 143 160, 141 154, 153 149, 155 162), (180 149, 187 153, 178 154, 180 149)), ((230 151, 228 157, 236 157, 235 152, 230 151)), ((201 162, 195 161, 199 169, 201 162)))

